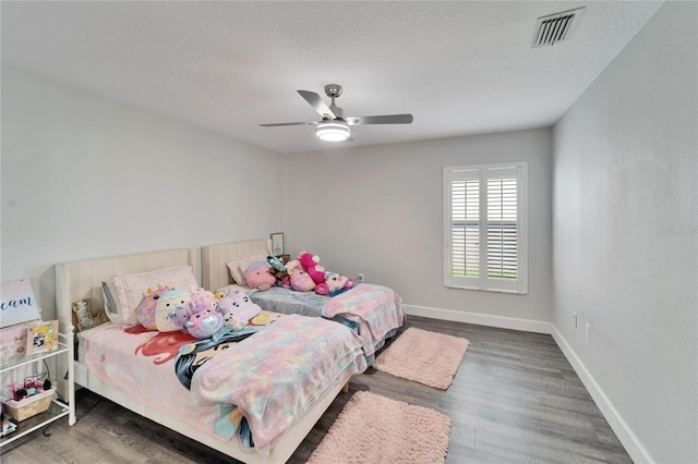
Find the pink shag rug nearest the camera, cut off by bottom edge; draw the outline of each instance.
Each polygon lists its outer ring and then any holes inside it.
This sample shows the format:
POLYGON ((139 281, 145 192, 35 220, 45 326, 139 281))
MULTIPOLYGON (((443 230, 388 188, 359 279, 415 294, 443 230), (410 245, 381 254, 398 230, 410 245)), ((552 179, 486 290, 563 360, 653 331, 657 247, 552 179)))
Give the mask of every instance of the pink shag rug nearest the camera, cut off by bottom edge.
POLYGON ((450 419, 429 407, 359 391, 308 464, 444 463, 450 419))

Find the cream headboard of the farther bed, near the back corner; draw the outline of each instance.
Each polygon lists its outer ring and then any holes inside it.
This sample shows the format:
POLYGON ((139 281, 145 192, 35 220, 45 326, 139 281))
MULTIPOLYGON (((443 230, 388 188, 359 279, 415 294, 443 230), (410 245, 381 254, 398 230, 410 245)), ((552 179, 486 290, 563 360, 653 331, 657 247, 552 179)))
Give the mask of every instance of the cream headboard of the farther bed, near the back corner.
POLYGON ((246 242, 221 243, 201 247, 201 273, 202 285, 206 290, 215 292, 221 286, 233 283, 228 266, 230 259, 249 255, 250 253, 265 251, 272 253, 272 241, 266 239, 250 240, 246 242))

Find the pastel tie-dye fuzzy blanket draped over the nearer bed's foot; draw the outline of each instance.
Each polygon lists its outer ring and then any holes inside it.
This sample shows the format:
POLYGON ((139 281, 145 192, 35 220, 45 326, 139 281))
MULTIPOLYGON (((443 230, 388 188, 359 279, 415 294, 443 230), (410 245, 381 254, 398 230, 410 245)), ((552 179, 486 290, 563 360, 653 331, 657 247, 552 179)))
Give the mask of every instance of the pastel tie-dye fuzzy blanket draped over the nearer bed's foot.
MULTIPOLYGON (((221 416, 237 405, 255 450, 265 453, 330 386, 365 369, 361 339, 352 330, 289 315, 200 367, 192 392, 201 404, 219 404, 221 416)), ((218 430, 225 429, 219 423, 218 430)))

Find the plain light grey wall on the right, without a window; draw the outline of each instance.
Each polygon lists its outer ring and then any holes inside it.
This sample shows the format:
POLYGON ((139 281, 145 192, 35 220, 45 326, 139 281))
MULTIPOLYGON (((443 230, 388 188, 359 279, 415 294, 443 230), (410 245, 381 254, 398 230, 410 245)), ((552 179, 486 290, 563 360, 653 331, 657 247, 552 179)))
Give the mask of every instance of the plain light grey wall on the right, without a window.
POLYGON ((637 462, 698 462, 697 19, 662 5, 554 127, 553 321, 637 462))

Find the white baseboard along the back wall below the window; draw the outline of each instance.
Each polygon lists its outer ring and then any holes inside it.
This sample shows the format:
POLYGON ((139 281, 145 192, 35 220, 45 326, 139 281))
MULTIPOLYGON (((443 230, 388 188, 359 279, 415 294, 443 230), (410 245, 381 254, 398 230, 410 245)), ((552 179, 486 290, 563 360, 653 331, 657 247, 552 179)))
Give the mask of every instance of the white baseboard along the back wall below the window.
POLYGON ((426 306, 405 305, 405 312, 408 316, 431 317, 432 319, 477 323, 479 326, 498 327, 501 329, 513 329, 535 333, 551 333, 552 327, 550 322, 544 322, 541 320, 492 316, 486 314, 432 308, 426 306))

